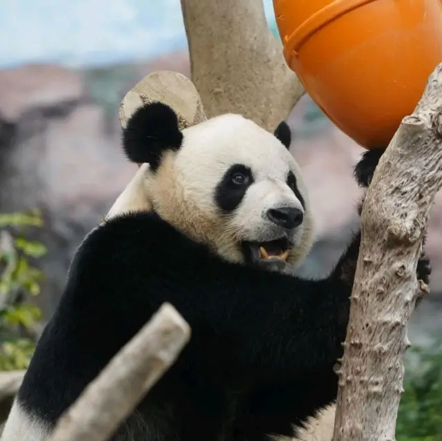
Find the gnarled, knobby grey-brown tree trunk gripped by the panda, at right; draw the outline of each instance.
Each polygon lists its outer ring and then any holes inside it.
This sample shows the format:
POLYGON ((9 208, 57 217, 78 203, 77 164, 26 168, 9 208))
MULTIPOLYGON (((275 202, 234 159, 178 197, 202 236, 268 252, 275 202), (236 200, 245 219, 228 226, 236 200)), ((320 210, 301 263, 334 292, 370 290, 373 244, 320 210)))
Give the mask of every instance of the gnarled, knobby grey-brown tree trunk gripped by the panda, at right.
POLYGON ((390 441, 403 388, 407 322, 419 294, 416 265, 442 184, 442 64, 427 81, 374 173, 339 375, 334 441, 390 441))

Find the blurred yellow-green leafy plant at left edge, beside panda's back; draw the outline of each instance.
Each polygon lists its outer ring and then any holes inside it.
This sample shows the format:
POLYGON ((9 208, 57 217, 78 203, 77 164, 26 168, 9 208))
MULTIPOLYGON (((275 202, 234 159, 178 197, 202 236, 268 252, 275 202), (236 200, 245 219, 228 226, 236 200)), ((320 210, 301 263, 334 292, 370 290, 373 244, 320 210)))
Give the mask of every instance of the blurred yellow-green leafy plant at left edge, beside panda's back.
POLYGON ((40 293, 42 274, 31 262, 46 247, 28 241, 23 231, 42 224, 38 211, 0 214, 0 371, 26 369, 35 350, 41 312, 23 298, 40 293))

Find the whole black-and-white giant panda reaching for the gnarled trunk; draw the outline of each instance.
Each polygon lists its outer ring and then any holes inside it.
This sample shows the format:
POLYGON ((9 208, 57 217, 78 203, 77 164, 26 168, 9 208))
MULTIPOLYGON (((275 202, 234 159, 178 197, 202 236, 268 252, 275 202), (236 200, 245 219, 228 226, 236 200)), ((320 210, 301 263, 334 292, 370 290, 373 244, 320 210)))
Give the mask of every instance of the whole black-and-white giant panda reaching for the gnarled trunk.
POLYGON ((228 114, 180 131, 165 104, 135 112, 123 146, 148 164, 148 202, 79 246, 2 441, 46 440, 163 302, 191 340, 111 441, 293 437, 334 402, 360 236, 329 277, 293 275, 313 236, 289 144, 285 123, 271 134, 228 114))

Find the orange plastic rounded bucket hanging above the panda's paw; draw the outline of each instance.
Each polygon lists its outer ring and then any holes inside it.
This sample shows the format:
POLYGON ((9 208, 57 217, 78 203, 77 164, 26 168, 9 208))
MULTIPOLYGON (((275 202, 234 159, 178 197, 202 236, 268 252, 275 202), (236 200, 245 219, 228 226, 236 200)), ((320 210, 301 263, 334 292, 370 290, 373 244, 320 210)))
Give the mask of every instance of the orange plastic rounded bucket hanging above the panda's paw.
POLYGON ((389 144, 442 61, 441 0, 273 0, 287 64, 340 130, 389 144))

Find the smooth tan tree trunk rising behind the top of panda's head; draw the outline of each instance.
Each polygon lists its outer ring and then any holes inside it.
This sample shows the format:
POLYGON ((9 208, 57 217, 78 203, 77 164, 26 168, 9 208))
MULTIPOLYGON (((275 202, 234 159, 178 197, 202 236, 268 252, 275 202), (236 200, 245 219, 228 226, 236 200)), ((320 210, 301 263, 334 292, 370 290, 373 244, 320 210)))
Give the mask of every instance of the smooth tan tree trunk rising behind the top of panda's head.
POLYGON ((273 131, 302 88, 267 26, 262 0, 181 0, 191 75, 207 117, 233 112, 273 131))

